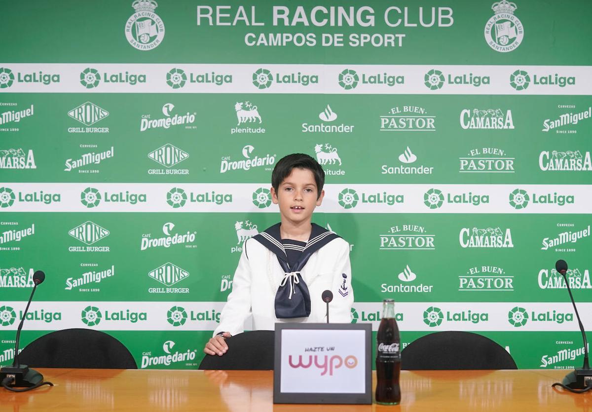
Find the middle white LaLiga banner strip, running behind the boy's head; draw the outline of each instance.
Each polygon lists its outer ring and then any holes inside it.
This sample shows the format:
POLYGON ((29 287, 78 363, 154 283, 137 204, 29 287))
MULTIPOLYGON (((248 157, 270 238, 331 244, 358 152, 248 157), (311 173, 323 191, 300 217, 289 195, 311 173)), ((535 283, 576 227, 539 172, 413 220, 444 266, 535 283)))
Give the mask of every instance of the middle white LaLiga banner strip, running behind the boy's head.
MULTIPOLYGON (((269 184, 6 183, 1 212, 278 212, 269 184), (7 206, 5 206, 7 205, 7 206)), ((320 213, 587 214, 592 185, 325 185, 320 213)))

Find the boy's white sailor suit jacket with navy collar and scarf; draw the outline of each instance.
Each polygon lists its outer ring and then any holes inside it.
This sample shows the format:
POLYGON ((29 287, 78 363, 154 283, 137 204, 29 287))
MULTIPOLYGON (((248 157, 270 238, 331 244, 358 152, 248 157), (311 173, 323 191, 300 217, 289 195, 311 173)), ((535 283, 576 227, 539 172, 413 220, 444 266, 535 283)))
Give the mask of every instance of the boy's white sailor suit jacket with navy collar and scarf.
POLYGON ((279 226, 275 224, 244 242, 232 292, 214 335, 225 331, 231 335, 242 333, 244 321, 250 315, 253 330, 274 330, 275 323, 280 322, 326 322, 326 304, 321 295, 327 289, 333 292, 330 322, 351 321, 353 290, 348 242, 313 223, 300 259, 290 267, 279 226))

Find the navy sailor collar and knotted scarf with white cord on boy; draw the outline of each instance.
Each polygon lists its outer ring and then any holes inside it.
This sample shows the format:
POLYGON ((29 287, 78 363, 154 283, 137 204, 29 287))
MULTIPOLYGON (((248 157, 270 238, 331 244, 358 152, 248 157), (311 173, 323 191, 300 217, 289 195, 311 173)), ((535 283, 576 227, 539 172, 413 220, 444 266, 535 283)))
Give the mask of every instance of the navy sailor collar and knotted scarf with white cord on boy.
POLYGON ((275 294, 275 316, 277 318, 308 317, 310 316, 310 293, 300 271, 314 252, 340 236, 313 223, 308 242, 302 249, 297 262, 290 268, 285 246, 288 249, 295 248, 294 245, 282 244, 279 234, 280 225, 281 223, 275 224, 253 236, 253 239, 278 257, 279 265, 285 273, 275 294))

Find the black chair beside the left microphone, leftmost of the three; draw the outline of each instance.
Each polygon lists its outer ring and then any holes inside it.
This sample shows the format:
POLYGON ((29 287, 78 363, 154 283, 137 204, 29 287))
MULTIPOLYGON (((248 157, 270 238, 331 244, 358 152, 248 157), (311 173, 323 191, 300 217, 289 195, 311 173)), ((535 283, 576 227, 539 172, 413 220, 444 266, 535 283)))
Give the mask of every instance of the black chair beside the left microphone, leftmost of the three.
POLYGON ((92 329, 65 329, 29 343, 18 355, 31 368, 137 369, 127 347, 92 329))

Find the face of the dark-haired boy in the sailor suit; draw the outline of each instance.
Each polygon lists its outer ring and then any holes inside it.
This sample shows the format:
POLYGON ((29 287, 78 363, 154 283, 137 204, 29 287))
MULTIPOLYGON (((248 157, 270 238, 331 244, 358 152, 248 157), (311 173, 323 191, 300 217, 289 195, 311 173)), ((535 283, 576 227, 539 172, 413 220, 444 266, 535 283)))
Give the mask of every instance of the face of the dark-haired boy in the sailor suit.
POLYGON ((271 188, 272 201, 279 205, 282 221, 292 223, 310 222, 314 208, 323 201, 324 191, 317 198, 317 184, 313 172, 308 169, 292 169, 276 192, 271 188))

